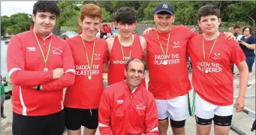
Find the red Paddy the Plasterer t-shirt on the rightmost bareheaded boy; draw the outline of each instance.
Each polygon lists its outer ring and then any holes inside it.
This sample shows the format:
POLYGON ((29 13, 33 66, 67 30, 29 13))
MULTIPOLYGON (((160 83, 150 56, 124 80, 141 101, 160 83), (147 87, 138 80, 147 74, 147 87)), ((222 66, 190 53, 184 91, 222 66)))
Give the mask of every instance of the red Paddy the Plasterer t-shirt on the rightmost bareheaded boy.
POLYGON ((245 55, 234 40, 225 40, 220 33, 209 57, 214 40, 204 40, 206 61, 203 60, 203 35, 193 37, 188 43, 188 54, 193 66, 192 84, 197 94, 211 104, 227 106, 233 104, 232 63, 239 65, 245 55), (209 66, 209 68, 207 68, 209 66), (209 74, 205 73, 208 69, 209 74))

